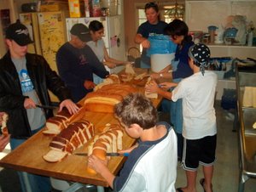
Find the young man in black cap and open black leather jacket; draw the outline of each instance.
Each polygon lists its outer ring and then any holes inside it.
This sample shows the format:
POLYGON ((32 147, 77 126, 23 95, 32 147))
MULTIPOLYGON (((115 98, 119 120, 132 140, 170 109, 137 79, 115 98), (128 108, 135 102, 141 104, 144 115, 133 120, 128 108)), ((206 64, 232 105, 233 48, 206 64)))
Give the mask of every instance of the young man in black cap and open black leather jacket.
MULTIPOLYGON (((6 31, 7 54, 0 59, 0 111, 9 114, 10 145, 14 150, 45 125, 53 111, 37 108, 36 104, 50 105, 48 89, 61 100, 60 110, 66 107, 73 114, 79 108, 61 78, 49 68, 46 60, 37 54, 27 53, 32 43, 25 25, 17 20, 6 31)), ((49 178, 19 172, 21 188, 26 191, 50 190, 49 178), (28 183, 28 184, 27 184, 28 183), (28 189, 30 188, 30 189, 28 189)))

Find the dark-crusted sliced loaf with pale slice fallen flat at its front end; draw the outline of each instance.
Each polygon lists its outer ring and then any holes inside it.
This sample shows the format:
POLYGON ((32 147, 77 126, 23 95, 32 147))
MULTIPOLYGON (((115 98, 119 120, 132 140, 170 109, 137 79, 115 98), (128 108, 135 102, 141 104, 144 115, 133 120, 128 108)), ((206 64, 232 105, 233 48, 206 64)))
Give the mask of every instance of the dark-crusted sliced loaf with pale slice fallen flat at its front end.
POLYGON ((63 129, 49 143, 50 150, 43 156, 45 161, 61 161, 67 154, 72 154, 94 136, 95 127, 89 121, 75 121, 63 129))

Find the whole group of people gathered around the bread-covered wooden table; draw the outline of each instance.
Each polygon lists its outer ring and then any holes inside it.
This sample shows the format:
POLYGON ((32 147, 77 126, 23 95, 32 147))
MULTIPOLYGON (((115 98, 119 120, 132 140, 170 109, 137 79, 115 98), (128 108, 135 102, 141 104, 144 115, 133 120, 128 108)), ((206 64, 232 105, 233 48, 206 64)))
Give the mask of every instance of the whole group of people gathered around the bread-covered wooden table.
MULTIPOLYGON (((160 20, 156 3, 145 5, 147 21, 139 26, 135 42, 143 46, 142 68, 150 68, 147 49, 151 33, 165 34, 177 44, 175 59, 159 73, 153 73, 154 82, 145 89, 158 93, 170 101, 171 124, 157 122, 157 110, 140 93, 131 93, 119 104, 114 113, 125 132, 137 139, 129 152, 124 167, 117 176, 109 172, 105 161, 89 157, 89 165, 108 181, 116 191, 183 191, 195 192, 199 164, 203 166, 204 191, 212 192, 213 163, 217 140, 215 110, 213 108, 217 76, 206 71, 210 50, 204 44, 194 44, 189 28, 182 20, 167 24, 160 20), (172 72, 170 69, 172 67, 172 72), (158 79, 172 82, 157 84, 158 79), (175 189, 177 160, 186 171, 187 186, 175 189)), ((93 90, 101 78, 109 75, 108 68, 126 64, 108 56, 102 36, 104 27, 92 21, 89 28, 73 25, 71 39, 56 54, 60 76, 52 71, 44 59, 27 53, 32 43, 25 25, 17 21, 6 31, 8 52, 0 59, 0 110, 9 114, 9 136, 0 136, 0 150, 10 143, 14 150, 45 125, 53 111, 37 104, 50 105, 48 90, 60 99, 71 114, 78 112, 76 104, 93 90), (26 74, 26 76, 24 76, 26 74), (96 79, 98 78, 98 82, 96 79)), ((49 178, 19 172, 23 191, 50 191, 49 178), (29 186, 23 180, 29 179, 29 186)))

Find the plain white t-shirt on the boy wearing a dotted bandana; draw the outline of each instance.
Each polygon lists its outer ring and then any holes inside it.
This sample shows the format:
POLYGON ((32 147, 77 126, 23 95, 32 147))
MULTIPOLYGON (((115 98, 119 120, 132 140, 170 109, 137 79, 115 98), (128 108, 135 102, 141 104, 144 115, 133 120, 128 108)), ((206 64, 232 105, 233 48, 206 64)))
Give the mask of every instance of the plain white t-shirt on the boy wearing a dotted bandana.
POLYGON ((217 133, 213 107, 217 75, 212 71, 201 72, 184 78, 172 91, 172 101, 183 99, 183 137, 204 138, 217 133))

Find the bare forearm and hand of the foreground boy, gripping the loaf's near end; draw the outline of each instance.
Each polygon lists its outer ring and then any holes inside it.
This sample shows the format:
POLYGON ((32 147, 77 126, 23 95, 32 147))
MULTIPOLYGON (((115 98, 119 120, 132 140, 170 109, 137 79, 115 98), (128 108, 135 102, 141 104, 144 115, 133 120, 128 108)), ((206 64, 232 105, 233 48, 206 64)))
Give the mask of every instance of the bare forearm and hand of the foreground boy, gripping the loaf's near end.
POLYGON ((90 155, 88 158, 89 167, 92 167, 96 172, 100 173, 102 178, 105 178, 109 186, 113 189, 113 179, 115 176, 109 171, 106 164, 107 161, 100 160, 96 155, 90 155))

